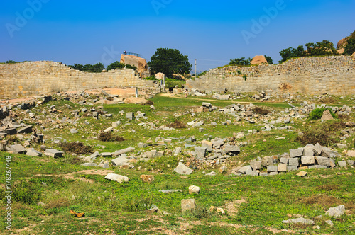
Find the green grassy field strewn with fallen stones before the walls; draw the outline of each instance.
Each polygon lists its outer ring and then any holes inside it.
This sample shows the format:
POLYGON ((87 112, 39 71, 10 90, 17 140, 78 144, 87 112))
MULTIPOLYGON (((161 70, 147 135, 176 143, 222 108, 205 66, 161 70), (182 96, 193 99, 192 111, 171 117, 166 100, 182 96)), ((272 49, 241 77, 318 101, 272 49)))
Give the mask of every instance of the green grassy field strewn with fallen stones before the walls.
MULTIPOLYGON (((352 97, 347 98, 349 102, 352 97)), ((336 99, 338 101, 339 98, 336 99)), ((260 156, 272 156, 288 152, 290 148, 302 147, 298 132, 317 132, 327 130, 333 142, 339 142, 337 128, 340 122, 354 121, 354 112, 342 120, 329 122, 295 120, 293 131, 272 130, 262 132, 262 125, 250 124, 246 121, 235 122, 234 117, 218 111, 196 113, 195 108, 203 101, 211 102, 222 108, 242 101, 211 101, 211 98, 183 98, 155 96, 152 99, 155 110, 145 105, 103 105, 103 110, 113 117, 80 117, 75 128, 77 134, 70 134, 72 125, 59 122, 29 124, 45 128, 45 146, 60 149, 53 139, 66 139, 69 142, 80 141, 92 147, 93 151, 116 151, 125 147, 136 147, 139 142, 155 142, 155 138, 173 139, 167 146, 148 147, 133 151, 164 150, 173 151, 176 146, 183 146, 179 137, 195 137, 202 139, 229 138, 234 133, 245 135, 239 142, 247 142, 241 147, 241 153, 232 156, 227 166, 229 170, 240 164, 248 164, 251 159, 260 156), (146 120, 127 120, 119 112, 146 113, 146 120), (194 115, 192 115, 194 113, 194 115), (97 137, 100 131, 111 126, 111 122, 121 121, 115 133, 124 137, 121 142, 102 142, 97 137), (151 122, 156 127, 167 126, 178 120, 184 124, 192 120, 203 121, 203 132, 198 128, 177 130, 151 129, 150 126, 139 126, 141 122, 151 122), (224 126, 222 122, 231 120, 232 124, 224 126), (89 122, 85 124, 84 122, 89 122), (217 125, 210 125, 217 122, 217 125), (249 130, 256 130, 249 134, 249 130), (58 138, 60 137, 60 138, 58 138), (284 139, 275 139, 285 137, 284 139), (104 147, 104 148, 103 148, 104 147)), ((273 116, 281 117, 288 103, 254 103, 255 105, 274 111, 273 116)), ((335 105, 336 103, 333 103, 335 105)), ((62 113, 50 114, 52 120, 72 117, 72 110, 91 108, 89 105, 77 105, 70 101, 50 101, 45 105, 33 108, 35 115, 42 115, 40 110, 55 105, 62 113), (68 110, 64 105, 70 105, 68 110)), ((26 113, 18 113, 19 118, 26 113)), ((282 124, 276 125, 282 126, 282 124)), ((15 142, 23 143, 21 139, 15 142)), ((347 139, 351 147, 354 137, 347 139)), ((199 144, 197 144, 199 145, 199 144)), ((40 144, 33 147, 40 148, 40 144)), ((332 144, 329 147, 334 147, 332 144)), ((188 150, 188 147, 187 149, 188 150)), ((192 148, 193 150, 193 148, 192 148)), ((342 149, 338 149, 342 152, 342 149)), ((355 234, 355 183, 353 167, 307 170, 308 176, 300 178, 297 171, 278 176, 235 176, 230 171, 219 173, 219 166, 194 168, 190 176, 180 176, 173 172, 179 161, 189 161, 190 156, 184 154, 173 156, 165 154, 152 161, 134 164, 133 169, 80 166, 82 161, 76 156, 65 154, 62 159, 48 156, 33 157, 0 152, 1 159, 1 214, 6 214, 5 180, 6 163, 11 167, 11 232, 12 234, 355 234), (6 161, 9 160, 10 161, 6 161), (205 176, 210 171, 217 176, 205 176), (105 180, 107 173, 118 173, 130 178, 129 183, 116 183, 105 180), (142 174, 155 177, 153 183, 143 183, 142 174), (198 195, 189 194, 189 186, 201 188, 198 195), (178 193, 160 193, 159 190, 182 190, 178 193), (194 198, 196 209, 192 212, 181 212, 181 200, 194 198), (38 205, 43 202, 43 205, 38 205), (147 210, 156 205, 158 212, 147 210), (346 213, 337 219, 325 216, 329 207, 345 205, 346 213), (210 212, 211 206, 221 207, 226 214, 210 212), (84 212, 82 218, 73 217, 70 210, 84 212), (319 217, 322 215, 322 217, 319 217), (312 219, 315 224, 283 224, 283 220, 304 217, 312 219), (333 226, 326 223, 332 220, 333 226), (319 226, 319 227, 317 227, 319 226)), ((344 155, 344 154, 343 154, 344 155)), ((344 159, 344 156, 339 157, 344 159)), ((110 159, 99 158, 99 161, 110 159)), ((338 161, 338 160, 337 160, 338 161)), ((1 234, 9 234, 5 229, 5 220, 1 219, 1 234)), ((10 234, 11 234, 10 232, 10 234)))

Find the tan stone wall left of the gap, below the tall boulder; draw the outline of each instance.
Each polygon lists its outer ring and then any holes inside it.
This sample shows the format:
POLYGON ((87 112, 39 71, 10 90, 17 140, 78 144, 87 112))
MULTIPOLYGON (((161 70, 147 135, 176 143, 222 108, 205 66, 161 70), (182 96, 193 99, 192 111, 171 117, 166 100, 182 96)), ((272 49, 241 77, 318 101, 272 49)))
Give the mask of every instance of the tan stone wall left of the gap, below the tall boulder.
POLYGON ((87 73, 48 61, 0 64, 0 84, 0 99, 104 87, 156 87, 154 81, 136 76, 133 69, 87 73))

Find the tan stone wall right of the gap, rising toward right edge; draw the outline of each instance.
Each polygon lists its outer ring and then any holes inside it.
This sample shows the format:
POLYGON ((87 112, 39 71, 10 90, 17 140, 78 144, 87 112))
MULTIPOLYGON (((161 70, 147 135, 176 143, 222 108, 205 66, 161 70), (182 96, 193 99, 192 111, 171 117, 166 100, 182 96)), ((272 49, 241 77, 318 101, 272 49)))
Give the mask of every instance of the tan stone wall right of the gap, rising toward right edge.
POLYGON ((290 59, 283 64, 230 66, 212 69, 195 81, 187 81, 186 86, 207 93, 223 93, 227 90, 350 95, 355 94, 355 58, 309 57, 290 59))

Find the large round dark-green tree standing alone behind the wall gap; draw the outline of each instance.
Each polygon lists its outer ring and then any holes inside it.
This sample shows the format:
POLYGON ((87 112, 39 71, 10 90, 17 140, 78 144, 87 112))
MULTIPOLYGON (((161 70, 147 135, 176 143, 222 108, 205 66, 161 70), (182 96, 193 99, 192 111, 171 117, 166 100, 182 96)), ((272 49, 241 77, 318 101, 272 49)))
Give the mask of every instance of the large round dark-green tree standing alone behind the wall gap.
POLYGON ((192 68, 187 55, 170 48, 158 48, 148 65, 152 75, 162 72, 167 77, 173 74, 188 74, 192 68))

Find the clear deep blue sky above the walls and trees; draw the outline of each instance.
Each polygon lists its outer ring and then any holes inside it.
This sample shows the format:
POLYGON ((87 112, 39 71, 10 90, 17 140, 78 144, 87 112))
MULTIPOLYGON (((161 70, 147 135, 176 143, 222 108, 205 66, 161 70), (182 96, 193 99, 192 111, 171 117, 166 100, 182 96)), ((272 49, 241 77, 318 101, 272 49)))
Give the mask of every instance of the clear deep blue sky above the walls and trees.
POLYGON ((193 69, 197 59, 197 70, 255 55, 278 62, 287 47, 337 45, 355 30, 354 10, 354 0, 1 1, 0 62, 108 65, 124 50, 149 60, 159 47, 180 50, 193 69))

